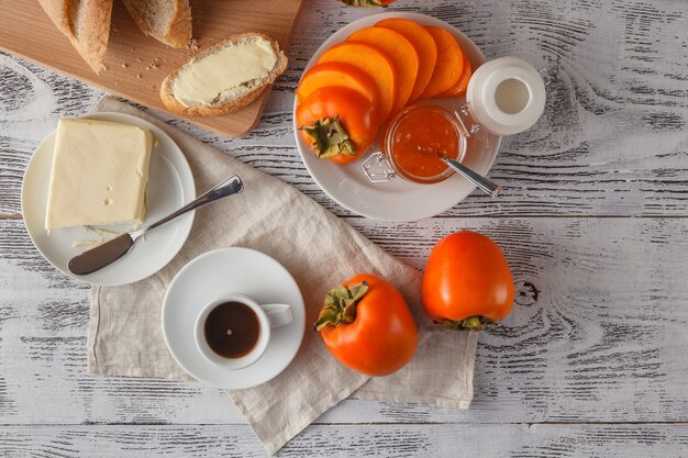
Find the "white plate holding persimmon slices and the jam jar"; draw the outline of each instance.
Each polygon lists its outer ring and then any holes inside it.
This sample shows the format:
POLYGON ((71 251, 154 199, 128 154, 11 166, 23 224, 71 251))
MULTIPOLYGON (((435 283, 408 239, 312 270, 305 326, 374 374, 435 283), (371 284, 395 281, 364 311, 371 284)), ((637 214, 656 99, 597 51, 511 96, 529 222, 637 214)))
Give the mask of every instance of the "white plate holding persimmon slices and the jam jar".
MULTIPOLYGON (((420 13, 381 13, 359 19, 340 29, 318 48, 306 70, 315 65, 325 49, 344 42, 355 31, 375 25, 389 18, 403 18, 422 25, 444 27, 454 35, 462 49, 468 54, 474 69, 486 62, 480 49, 466 35, 439 19, 420 13)), ((443 104, 446 108, 458 108, 465 103, 465 98, 462 96, 457 99, 434 99, 433 103, 443 104)), ((296 105, 295 100, 295 112, 296 105)), ((297 146, 313 180, 342 206, 363 216, 387 221, 431 217, 456 205, 475 189, 475 185, 458 175, 434 185, 417 185, 401 177, 386 183, 370 182, 360 166, 364 159, 345 166, 318 159, 299 135, 297 127, 295 116, 293 132, 297 146)), ((500 141, 501 137, 498 135, 485 131, 479 132, 469 141, 468 153, 463 163, 478 174, 487 175, 497 157, 500 141)), ((379 150, 379 138, 373 145, 373 150, 379 150)))

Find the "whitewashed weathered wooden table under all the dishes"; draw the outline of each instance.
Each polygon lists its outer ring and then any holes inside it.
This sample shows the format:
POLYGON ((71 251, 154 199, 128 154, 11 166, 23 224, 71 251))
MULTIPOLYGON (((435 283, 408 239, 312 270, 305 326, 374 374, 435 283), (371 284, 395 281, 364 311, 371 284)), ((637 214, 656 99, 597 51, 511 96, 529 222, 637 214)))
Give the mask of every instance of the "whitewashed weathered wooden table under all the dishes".
MULTIPOLYGON (((345 401, 279 455, 688 456, 688 3, 398 3, 458 26, 488 58, 553 71, 540 123, 502 144, 498 200, 476 191, 392 224, 320 191, 292 138, 293 91, 319 44, 371 13, 334 0, 304 1, 289 69, 252 135, 166 118, 419 269, 436 239, 471 228, 501 245, 518 281, 512 314, 480 336, 470 410, 345 401)), ((57 119, 102 96, 0 54, 0 456, 264 456, 220 390, 86 375, 87 286, 35 250, 20 189, 57 119)))

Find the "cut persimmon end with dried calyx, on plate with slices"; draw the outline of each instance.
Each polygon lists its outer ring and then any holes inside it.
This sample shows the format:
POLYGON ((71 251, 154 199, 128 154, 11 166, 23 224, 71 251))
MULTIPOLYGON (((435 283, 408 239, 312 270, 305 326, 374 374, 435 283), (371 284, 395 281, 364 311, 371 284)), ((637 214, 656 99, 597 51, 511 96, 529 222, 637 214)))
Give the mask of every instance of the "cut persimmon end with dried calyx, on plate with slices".
POLYGON ((379 125, 368 99, 336 86, 317 89, 299 102, 296 121, 315 156, 339 164, 360 157, 373 144, 379 125))

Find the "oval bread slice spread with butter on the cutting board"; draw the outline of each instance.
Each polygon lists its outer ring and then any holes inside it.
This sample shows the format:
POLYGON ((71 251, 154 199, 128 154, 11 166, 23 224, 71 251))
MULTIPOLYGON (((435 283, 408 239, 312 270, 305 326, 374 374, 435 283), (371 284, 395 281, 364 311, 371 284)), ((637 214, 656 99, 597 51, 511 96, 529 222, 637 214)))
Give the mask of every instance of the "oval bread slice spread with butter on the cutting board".
POLYGON ((160 86, 171 112, 218 116, 238 110, 287 69, 279 44, 260 33, 243 33, 202 51, 173 71, 160 86))

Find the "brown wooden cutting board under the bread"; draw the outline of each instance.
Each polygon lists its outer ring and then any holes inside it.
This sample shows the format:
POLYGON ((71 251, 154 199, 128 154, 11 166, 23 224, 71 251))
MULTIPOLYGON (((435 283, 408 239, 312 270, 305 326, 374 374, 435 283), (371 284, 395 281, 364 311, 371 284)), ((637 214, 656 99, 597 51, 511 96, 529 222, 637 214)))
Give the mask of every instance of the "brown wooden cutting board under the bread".
MULTIPOLYGON (((192 0, 193 36, 198 48, 203 49, 235 33, 263 32, 286 49, 300 5, 301 0, 192 0)), ((107 69, 100 75, 81 59, 36 0, 1 0, 0 31, 0 49, 166 112, 158 97, 160 83, 193 54, 145 36, 119 0, 112 11, 107 69)), ((244 109, 224 116, 186 120, 220 134, 241 136, 258 122, 268 96, 269 89, 244 109)))

